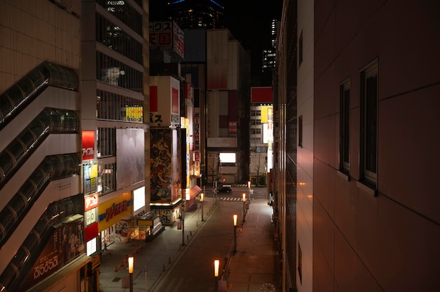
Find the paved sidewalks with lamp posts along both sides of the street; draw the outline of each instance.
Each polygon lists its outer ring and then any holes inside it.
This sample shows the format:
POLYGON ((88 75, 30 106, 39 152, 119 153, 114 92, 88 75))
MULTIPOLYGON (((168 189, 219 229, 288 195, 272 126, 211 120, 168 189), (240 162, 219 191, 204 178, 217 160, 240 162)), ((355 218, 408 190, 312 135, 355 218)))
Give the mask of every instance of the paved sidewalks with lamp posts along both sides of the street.
MULTIPOLYGON (((204 219, 207 220, 217 207, 214 197, 205 197, 204 219)), ((264 282, 277 284, 271 214, 272 208, 267 206, 266 200, 250 204, 242 233, 237 232, 237 252, 231 251, 222 275, 228 292, 259 291, 264 282)), ((196 205, 185 212, 184 233, 177 229, 176 222, 166 226, 153 241, 115 242, 108 246, 108 250, 101 253, 101 292, 129 291, 127 255, 134 256, 134 291, 155 291, 174 260, 184 251, 183 244, 188 244, 203 227, 201 217, 201 210, 196 205)))

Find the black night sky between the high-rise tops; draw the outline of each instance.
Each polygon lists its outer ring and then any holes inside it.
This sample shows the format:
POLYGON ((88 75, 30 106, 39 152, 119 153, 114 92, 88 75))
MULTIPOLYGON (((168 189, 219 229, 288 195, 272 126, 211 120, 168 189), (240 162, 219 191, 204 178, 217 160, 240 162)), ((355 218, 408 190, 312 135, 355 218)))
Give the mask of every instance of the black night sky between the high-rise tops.
MULTIPOLYGON (((221 0, 219 0, 221 1, 221 0)), ((271 47, 271 20, 280 20, 283 0, 223 0, 226 28, 250 50, 252 74, 261 71, 261 52, 271 47)))

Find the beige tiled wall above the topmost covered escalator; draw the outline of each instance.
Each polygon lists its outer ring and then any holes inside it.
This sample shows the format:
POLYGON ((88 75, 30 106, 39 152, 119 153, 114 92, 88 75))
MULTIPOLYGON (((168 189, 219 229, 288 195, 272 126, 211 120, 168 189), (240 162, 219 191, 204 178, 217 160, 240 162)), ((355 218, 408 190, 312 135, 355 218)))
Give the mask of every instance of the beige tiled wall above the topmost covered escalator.
POLYGON ((48 0, 0 0, 0 92, 44 60, 79 68, 81 0, 70 3, 72 13, 48 0))

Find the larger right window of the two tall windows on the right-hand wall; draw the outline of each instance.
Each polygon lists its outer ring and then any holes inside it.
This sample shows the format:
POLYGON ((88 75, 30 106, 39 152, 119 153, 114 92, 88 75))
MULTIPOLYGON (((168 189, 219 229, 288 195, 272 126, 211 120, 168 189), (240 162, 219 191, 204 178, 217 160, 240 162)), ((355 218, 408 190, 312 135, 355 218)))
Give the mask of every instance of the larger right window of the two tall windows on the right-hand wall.
POLYGON ((377 60, 361 72, 361 177, 377 185, 377 60))

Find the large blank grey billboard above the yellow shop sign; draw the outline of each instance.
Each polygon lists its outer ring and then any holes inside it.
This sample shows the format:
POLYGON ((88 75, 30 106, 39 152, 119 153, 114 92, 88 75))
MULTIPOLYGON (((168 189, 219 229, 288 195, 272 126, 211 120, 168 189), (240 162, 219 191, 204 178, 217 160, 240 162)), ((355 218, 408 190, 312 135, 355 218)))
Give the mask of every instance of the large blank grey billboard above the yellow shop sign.
POLYGON ((142 128, 116 129, 117 190, 144 180, 144 139, 142 128))

